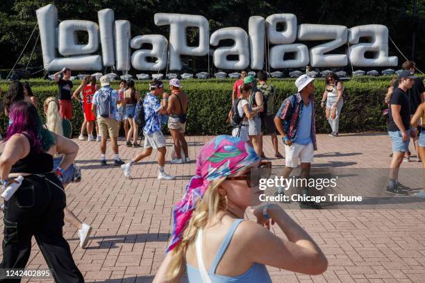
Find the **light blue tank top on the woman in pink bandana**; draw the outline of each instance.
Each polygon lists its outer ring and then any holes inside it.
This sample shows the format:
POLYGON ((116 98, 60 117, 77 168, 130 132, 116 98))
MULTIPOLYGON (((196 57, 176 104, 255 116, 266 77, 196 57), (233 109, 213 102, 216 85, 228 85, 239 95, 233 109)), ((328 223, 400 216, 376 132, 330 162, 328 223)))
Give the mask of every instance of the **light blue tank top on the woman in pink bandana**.
MULTIPOLYGON (((211 264, 210 270, 208 271, 208 276, 211 279, 211 282, 213 283, 230 283, 230 282, 245 282, 245 283, 271 283, 272 279, 270 278, 269 272, 267 271, 267 268, 264 264, 253 264, 245 273, 242 275, 238 275, 236 277, 230 277, 230 276, 224 276, 224 275, 218 275, 215 274, 215 270, 217 269, 217 266, 222 259, 224 252, 226 252, 226 249, 228 247, 228 244, 230 243, 233 234, 235 233, 236 228, 238 228, 238 225, 244 221, 243 219, 235 219, 233 222, 230 230, 227 232, 226 237, 224 237, 224 241, 219 246, 219 249, 217 250, 217 254, 215 255, 213 264, 211 264)), ((193 266, 190 266, 189 264, 186 264, 186 270, 188 272, 188 279, 189 282, 192 283, 199 283, 202 282, 201 273, 197 268, 194 268, 193 266)))

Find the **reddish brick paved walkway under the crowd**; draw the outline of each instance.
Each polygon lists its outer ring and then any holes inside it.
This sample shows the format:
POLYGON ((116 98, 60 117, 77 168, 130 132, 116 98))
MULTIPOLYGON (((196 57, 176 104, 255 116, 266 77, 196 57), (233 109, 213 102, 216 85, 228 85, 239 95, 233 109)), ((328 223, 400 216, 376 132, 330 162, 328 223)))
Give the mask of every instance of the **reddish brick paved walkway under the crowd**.
MULTIPOLYGON (((188 137, 193 160, 208 139, 188 137)), ((178 179, 160 182, 156 179, 156 156, 151 156, 136 164, 134 178, 126 180, 121 169, 99 166, 99 144, 76 142, 80 146, 77 164, 82 168, 83 180, 66 189, 68 208, 94 228, 90 246, 81 249, 76 229, 65 224, 65 239, 78 268, 86 282, 151 282, 164 257, 172 205, 183 194, 194 162, 167 162, 165 170, 178 179)), ((170 137, 167 142, 171 146, 170 137)), ((124 160, 140 151, 123 143, 120 141, 120 155, 124 160)), ((384 170, 390 161, 390 142, 383 134, 349 134, 338 138, 319 135, 318 145, 313 164, 316 169, 333 167, 346 173, 384 170)), ((269 137, 265 137, 265 154, 273 156, 269 137)), ((112 156, 109 149, 108 156, 112 156)), ((283 160, 272 161, 274 167, 283 167, 283 160)), ((412 182, 412 188, 419 189, 420 165, 403 163, 406 170, 401 173, 401 182, 412 182)), ((355 191, 357 186, 361 187, 360 179, 348 187, 355 191)), ((363 179, 367 182, 368 178, 363 179)), ((367 186, 363 184, 363 189, 367 186)), ((425 203, 411 196, 376 199, 385 205, 319 211, 300 210, 294 203, 287 205, 288 213, 324 250, 329 266, 326 273, 317 276, 269 268, 273 282, 425 282, 425 203)), ((250 212, 247 217, 252 218, 250 212)), ((28 268, 46 268, 35 241, 33 244, 28 268)))

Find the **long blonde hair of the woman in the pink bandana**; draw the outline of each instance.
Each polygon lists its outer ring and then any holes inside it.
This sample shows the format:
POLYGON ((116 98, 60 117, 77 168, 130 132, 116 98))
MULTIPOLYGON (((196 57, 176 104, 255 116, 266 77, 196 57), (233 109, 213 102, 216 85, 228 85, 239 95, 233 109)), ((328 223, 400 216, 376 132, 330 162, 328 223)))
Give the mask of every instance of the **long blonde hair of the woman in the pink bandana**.
POLYGON ((171 251, 172 261, 169 263, 166 274, 167 280, 173 280, 184 270, 185 254, 188 246, 194 242, 199 228, 203 228, 206 224, 211 224, 210 221, 215 221, 217 214, 226 209, 226 200, 218 192, 220 184, 226 178, 213 180, 201 200, 197 203, 197 208, 194 209, 188 227, 183 232, 183 239, 171 251))

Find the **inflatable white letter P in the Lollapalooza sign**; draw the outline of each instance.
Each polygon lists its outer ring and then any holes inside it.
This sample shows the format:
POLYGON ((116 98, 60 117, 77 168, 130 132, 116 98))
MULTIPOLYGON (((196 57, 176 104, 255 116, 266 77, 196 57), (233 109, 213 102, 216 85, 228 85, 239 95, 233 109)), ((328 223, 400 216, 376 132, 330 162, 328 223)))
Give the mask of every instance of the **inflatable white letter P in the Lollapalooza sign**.
POLYGON ((154 16, 157 26, 169 25, 169 69, 181 70, 180 55, 203 56, 208 54, 210 28, 205 17, 197 15, 157 13, 154 16), (188 46, 186 31, 199 28, 199 46, 188 46))

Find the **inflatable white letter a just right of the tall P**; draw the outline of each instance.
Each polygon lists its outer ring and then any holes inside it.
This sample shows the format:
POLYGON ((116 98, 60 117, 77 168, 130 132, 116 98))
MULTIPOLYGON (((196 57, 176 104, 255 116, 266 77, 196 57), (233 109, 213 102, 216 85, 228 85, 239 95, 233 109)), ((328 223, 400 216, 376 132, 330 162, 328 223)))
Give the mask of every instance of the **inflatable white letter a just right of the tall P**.
POLYGON ((220 28, 210 38, 210 44, 217 46, 220 40, 234 40, 233 46, 223 46, 214 51, 214 65, 219 69, 245 69, 249 66, 249 44, 247 32, 242 28, 220 28), (238 60, 228 60, 228 55, 238 55, 238 60))

